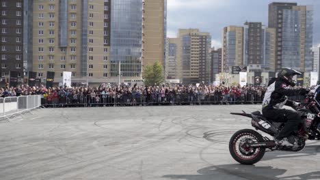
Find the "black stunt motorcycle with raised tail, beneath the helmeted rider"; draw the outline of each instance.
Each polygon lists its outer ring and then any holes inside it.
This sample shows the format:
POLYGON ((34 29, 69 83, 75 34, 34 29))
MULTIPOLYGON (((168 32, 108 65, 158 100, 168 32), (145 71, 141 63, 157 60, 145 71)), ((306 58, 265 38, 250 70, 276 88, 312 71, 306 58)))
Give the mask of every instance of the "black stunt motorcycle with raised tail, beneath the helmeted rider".
MULTIPOLYGON (((276 144, 274 140, 270 140, 267 136, 263 136, 255 130, 244 129, 235 132, 230 138, 229 151, 233 159, 240 164, 255 164, 260 161, 267 151, 302 151, 306 146, 306 140, 320 140, 320 86, 312 89, 301 106, 296 110, 302 115, 302 123, 300 123, 297 131, 292 132, 288 137, 293 147, 282 147, 276 144)), ((252 119, 251 125, 256 130, 261 130, 275 136, 282 130, 285 123, 269 121, 260 111, 251 113, 231 112, 231 115, 241 115, 252 119)))

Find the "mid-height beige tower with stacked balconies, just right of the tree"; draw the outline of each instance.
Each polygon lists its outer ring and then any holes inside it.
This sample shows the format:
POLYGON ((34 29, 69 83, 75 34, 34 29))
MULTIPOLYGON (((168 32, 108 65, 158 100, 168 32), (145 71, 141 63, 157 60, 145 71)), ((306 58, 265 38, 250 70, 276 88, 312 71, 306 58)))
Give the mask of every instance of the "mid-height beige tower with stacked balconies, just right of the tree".
MULTIPOLYGON (((210 33, 200 32, 199 29, 179 29, 178 37, 168 38, 166 73, 169 76, 175 70, 174 78, 185 84, 202 81, 208 83, 211 73, 210 48, 210 33), (174 68, 170 67, 173 61, 174 68)), ((170 76, 167 78, 172 78, 170 76)))

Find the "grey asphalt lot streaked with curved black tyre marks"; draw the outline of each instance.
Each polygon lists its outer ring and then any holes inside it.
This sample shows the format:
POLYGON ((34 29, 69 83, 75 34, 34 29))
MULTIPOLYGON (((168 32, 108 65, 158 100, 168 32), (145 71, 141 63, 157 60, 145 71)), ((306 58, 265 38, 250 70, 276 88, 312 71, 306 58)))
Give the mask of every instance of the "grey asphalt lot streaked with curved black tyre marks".
POLYGON ((244 166, 228 151, 261 105, 46 108, 0 121, 0 179, 320 179, 320 141, 244 166), (206 135, 207 138, 203 138, 206 135))

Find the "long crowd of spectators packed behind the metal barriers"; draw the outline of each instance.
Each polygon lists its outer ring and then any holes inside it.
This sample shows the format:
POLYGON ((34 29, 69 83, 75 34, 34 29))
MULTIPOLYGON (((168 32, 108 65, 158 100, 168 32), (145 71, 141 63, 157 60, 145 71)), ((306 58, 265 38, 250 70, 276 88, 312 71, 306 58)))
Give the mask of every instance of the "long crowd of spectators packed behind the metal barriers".
POLYGON ((224 85, 123 85, 112 87, 40 87, 1 88, 1 97, 42 95, 46 106, 139 106, 183 104, 253 104, 261 102, 266 87, 225 87, 224 85))

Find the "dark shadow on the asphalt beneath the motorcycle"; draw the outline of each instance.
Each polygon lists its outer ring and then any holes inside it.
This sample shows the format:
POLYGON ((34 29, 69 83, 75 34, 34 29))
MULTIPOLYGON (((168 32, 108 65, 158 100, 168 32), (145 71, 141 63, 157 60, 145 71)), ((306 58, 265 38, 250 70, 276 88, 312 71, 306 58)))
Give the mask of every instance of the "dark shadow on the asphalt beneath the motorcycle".
POLYGON ((274 168, 272 166, 248 166, 241 164, 226 164, 219 166, 209 166, 197 171, 197 175, 164 175, 169 179, 186 180, 211 180, 211 179, 320 179, 320 171, 308 172, 301 175, 282 176, 286 172, 284 168, 274 168), (279 177, 281 176, 281 177, 279 177))

